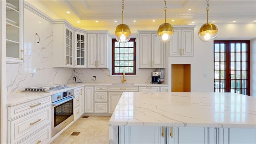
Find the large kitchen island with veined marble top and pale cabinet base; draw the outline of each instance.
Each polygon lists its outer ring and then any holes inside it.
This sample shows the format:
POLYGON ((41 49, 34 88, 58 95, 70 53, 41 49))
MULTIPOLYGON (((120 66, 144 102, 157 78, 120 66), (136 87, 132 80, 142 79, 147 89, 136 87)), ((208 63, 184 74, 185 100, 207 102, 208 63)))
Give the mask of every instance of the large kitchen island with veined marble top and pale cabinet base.
POLYGON ((123 92, 109 124, 110 144, 256 144, 256 98, 123 92))

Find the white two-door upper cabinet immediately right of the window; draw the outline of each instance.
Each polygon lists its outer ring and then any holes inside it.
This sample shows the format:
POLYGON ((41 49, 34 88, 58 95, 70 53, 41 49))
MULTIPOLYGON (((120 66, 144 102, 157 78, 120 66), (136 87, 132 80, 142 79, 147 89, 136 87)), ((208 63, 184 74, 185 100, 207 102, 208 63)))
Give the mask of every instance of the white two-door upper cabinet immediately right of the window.
POLYGON ((139 68, 165 68, 165 44, 156 31, 138 31, 139 68))

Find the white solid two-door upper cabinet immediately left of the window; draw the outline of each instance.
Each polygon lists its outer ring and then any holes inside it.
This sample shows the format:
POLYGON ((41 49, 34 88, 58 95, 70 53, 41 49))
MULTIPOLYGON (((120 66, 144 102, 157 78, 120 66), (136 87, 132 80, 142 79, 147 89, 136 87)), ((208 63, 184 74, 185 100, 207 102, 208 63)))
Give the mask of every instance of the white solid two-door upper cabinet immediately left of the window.
POLYGON ((108 31, 88 32, 87 68, 108 68, 108 31))

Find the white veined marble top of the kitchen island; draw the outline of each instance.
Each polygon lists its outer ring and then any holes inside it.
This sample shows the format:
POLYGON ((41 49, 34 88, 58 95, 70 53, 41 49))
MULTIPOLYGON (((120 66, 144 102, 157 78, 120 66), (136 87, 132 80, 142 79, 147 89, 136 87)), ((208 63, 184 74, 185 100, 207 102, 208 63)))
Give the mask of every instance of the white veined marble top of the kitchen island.
POLYGON ((123 92, 109 123, 256 128, 256 97, 213 92, 123 92))

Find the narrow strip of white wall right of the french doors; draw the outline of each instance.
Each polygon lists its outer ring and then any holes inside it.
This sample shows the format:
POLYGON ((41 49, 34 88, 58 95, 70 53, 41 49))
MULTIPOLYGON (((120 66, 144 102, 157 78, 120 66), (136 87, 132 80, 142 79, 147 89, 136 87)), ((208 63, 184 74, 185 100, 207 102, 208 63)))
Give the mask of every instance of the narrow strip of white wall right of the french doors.
POLYGON ((250 42, 250 95, 256 97, 256 38, 250 42))

